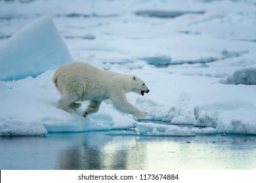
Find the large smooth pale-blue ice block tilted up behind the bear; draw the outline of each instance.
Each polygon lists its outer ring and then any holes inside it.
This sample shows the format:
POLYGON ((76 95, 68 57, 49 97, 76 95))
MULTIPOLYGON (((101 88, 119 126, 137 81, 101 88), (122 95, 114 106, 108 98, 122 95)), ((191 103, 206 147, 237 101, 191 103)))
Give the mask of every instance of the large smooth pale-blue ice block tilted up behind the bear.
POLYGON ((50 16, 42 16, 0 44, 0 80, 37 76, 73 58, 50 16))

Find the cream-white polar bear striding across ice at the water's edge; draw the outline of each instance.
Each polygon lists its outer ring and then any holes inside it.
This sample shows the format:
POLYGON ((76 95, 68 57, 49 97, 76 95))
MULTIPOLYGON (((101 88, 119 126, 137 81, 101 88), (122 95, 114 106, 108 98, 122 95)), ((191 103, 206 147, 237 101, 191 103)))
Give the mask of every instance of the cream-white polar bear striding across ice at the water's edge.
POLYGON ((100 103, 110 99, 117 110, 132 114, 137 118, 145 118, 147 113, 134 107, 126 99, 126 93, 135 92, 140 95, 150 92, 139 77, 100 70, 83 62, 72 62, 59 67, 53 76, 53 82, 62 97, 56 103, 56 108, 72 112, 81 103, 89 101, 89 106, 83 112, 86 117, 95 113, 100 103))

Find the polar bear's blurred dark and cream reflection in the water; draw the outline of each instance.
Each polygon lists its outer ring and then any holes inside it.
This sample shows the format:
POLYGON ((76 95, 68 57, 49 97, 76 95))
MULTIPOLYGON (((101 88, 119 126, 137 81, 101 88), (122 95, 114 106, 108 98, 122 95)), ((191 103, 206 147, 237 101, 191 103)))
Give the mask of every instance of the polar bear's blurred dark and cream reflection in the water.
POLYGON ((58 151, 57 169, 144 169, 146 146, 138 137, 114 137, 87 133, 81 142, 58 151), (104 138, 97 138, 103 136, 104 138), (98 141, 95 141, 95 138, 98 141), (81 146, 80 146, 81 144, 81 146), (135 163, 136 162, 136 163, 135 163))

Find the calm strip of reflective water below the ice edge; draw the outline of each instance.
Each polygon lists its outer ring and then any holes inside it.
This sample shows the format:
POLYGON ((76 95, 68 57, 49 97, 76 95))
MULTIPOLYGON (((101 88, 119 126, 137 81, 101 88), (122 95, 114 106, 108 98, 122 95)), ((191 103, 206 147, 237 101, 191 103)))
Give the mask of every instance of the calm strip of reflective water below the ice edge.
POLYGON ((0 137, 0 169, 256 169, 255 136, 117 133, 0 137))

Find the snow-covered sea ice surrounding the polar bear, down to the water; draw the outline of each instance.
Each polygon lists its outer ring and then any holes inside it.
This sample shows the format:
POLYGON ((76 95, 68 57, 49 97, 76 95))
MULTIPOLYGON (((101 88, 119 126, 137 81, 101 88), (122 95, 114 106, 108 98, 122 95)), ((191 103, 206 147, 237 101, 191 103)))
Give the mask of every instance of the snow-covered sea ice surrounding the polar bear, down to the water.
POLYGON ((253 1, 0 5, 0 135, 112 129, 122 129, 120 135, 256 135, 253 1), (150 93, 127 99, 148 112, 147 119, 121 114, 109 101, 87 118, 81 114, 88 102, 72 114, 55 108, 60 94, 52 77, 66 61, 142 78, 150 93))

